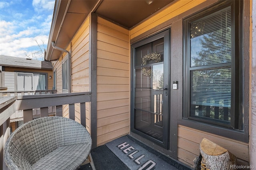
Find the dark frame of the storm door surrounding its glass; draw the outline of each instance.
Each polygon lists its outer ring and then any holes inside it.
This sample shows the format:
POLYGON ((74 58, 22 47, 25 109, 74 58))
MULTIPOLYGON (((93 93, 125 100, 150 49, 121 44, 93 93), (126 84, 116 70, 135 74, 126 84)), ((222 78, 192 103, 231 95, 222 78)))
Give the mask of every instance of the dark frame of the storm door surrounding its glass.
POLYGON ((162 148, 165 149, 169 149, 169 143, 170 143, 170 28, 163 30, 161 32, 158 32, 148 38, 145 38, 143 40, 141 40, 140 42, 136 42, 133 43, 131 45, 131 105, 130 105, 130 109, 131 109, 131 120, 130 120, 130 130, 131 132, 138 134, 140 136, 142 136, 143 138, 150 140, 151 142, 154 142, 155 144, 161 146, 162 148), (142 45, 145 45, 147 43, 151 43, 154 42, 156 40, 159 40, 160 38, 164 38, 164 87, 166 87, 166 85, 168 85, 168 91, 167 91, 167 96, 164 95, 164 101, 166 101, 164 103, 164 108, 163 108, 163 112, 167 113, 166 115, 164 115, 164 122, 163 122, 163 142, 160 142, 159 140, 156 140, 155 138, 146 135, 143 132, 140 132, 139 130, 136 130, 134 128, 134 97, 135 97, 135 90, 134 90, 134 75, 135 75, 135 69, 134 69, 134 64, 135 64, 135 48, 140 47, 142 45), (166 75, 167 74, 167 75, 166 75))

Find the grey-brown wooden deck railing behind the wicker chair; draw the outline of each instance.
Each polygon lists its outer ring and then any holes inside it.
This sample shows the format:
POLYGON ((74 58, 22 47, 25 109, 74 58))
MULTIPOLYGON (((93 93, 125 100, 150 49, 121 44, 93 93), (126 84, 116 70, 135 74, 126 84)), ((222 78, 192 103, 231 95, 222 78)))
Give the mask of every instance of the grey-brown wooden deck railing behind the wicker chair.
POLYGON ((56 116, 62 116, 63 105, 68 105, 69 118, 75 120, 75 104, 80 103, 80 121, 86 127, 85 106, 90 101, 90 92, 0 97, 0 169, 7 169, 3 148, 10 136, 10 117, 14 112, 23 110, 26 123, 33 119, 32 110, 35 108, 40 108, 40 117, 48 116, 48 107, 56 107, 56 116))

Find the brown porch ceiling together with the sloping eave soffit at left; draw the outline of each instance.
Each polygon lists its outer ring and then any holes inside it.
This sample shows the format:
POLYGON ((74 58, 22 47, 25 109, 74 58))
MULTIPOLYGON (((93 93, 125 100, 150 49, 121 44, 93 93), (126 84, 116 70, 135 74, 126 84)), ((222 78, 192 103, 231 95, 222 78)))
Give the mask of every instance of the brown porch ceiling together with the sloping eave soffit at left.
POLYGON ((90 12, 128 29, 142 22, 174 0, 56 0, 45 59, 56 60, 66 48, 90 12), (150 3, 151 2, 151 3, 150 3))

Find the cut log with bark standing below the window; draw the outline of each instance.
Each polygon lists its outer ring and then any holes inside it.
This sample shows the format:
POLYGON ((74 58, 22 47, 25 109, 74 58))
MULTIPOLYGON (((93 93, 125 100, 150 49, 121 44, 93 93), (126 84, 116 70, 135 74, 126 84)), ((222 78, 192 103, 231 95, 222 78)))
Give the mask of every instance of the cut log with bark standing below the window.
POLYGON ((202 170, 232 170, 236 164, 236 156, 218 144, 203 138, 200 143, 202 170))

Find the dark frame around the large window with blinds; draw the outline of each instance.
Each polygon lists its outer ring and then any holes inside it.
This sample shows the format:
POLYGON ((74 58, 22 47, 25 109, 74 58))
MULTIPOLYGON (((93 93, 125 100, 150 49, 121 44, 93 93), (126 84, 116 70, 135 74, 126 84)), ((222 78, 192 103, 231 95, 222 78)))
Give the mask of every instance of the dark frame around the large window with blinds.
MULTIPOLYGON (((243 124, 243 111, 241 105, 243 105, 242 99, 242 77, 241 77, 241 51, 240 46, 241 42, 239 39, 241 38, 240 27, 242 24, 239 23, 239 19, 241 16, 239 15, 242 6, 242 2, 235 1, 221 1, 212 6, 209 6, 206 9, 203 9, 199 12, 196 12, 183 20, 183 119, 188 119, 193 122, 204 123, 206 125, 214 125, 225 128, 231 128, 236 130, 244 130, 243 124), (190 71, 195 70, 193 67, 190 67, 190 22, 203 18, 204 16, 208 16, 217 12, 223 8, 231 7, 231 57, 232 57, 232 65, 231 65, 231 120, 230 125, 226 125, 223 123, 218 123, 217 121, 209 121, 205 119, 190 117, 190 71), (234 93, 236 91, 236 93, 234 93)), ((242 12, 241 12, 242 14, 242 12)), ((241 39, 242 40, 242 39, 241 39)), ((208 66, 200 66, 196 70, 205 69, 208 66)), ((219 64, 216 64, 216 67, 212 67, 212 69, 220 68, 219 64)), ((217 119, 216 119, 217 120, 217 119)), ((245 122, 246 123, 246 122, 245 122)))

